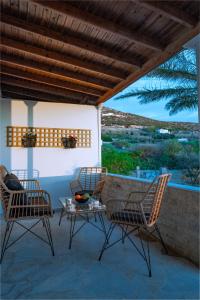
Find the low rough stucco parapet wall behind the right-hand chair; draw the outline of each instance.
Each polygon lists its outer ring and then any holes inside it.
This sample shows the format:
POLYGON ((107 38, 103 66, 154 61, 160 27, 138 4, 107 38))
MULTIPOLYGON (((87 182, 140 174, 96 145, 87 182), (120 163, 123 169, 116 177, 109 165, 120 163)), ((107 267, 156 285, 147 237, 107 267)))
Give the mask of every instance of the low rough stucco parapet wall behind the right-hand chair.
MULTIPOLYGON (((126 199, 130 191, 145 191, 147 181, 109 175, 103 201, 126 199)), ((164 240, 170 248, 199 265, 199 192, 197 189, 169 184, 158 221, 164 240)))

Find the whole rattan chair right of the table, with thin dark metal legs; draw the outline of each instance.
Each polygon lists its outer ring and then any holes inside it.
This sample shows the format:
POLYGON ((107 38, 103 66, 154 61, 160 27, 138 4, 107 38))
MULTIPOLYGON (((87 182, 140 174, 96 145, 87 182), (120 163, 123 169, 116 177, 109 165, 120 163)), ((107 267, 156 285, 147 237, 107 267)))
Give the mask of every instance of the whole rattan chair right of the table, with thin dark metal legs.
POLYGON ((117 199, 111 199, 107 201, 107 216, 111 223, 99 256, 99 260, 101 260, 106 249, 114 246, 120 241, 124 243, 125 240, 128 239, 146 262, 149 277, 151 277, 149 241, 147 239, 145 247, 145 244, 141 238, 141 233, 143 231, 147 231, 153 235, 153 233, 156 232, 167 253, 167 248, 162 239, 160 230, 158 229, 157 219, 170 176, 170 174, 158 176, 149 186, 146 192, 132 192, 130 193, 127 201, 117 199), (110 238, 116 225, 121 228, 122 235, 118 240, 110 243, 110 238), (131 233, 135 231, 138 233, 141 249, 131 238, 131 233))

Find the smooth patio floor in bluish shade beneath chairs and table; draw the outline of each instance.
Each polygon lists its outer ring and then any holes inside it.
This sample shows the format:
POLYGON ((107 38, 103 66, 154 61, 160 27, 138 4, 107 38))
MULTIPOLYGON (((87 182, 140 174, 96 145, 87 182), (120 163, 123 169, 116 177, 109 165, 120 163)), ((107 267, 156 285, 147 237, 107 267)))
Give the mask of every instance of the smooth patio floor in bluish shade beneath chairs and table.
MULTIPOLYGON (((162 254, 151 243, 153 277, 127 241, 97 260, 104 237, 85 226, 68 250, 69 222, 51 220, 56 255, 28 234, 5 254, 1 299, 198 299, 198 269, 183 258, 162 254)), ((17 236, 20 229, 13 232, 17 236)), ((3 226, 4 228, 4 223, 3 226)), ((41 225, 35 232, 39 233, 41 225)), ((116 232, 117 234, 117 232, 116 232)), ((137 240, 137 238, 135 238, 137 240)))

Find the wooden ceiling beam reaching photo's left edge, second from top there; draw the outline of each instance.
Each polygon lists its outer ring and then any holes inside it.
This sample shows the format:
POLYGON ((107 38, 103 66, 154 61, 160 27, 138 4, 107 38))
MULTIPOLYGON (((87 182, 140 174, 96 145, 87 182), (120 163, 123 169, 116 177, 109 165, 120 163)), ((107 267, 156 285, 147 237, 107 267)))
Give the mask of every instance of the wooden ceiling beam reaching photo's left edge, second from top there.
POLYGON ((24 42, 9 39, 5 36, 1 36, 0 44, 13 49, 13 51, 16 49, 31 55, 36 55, 45 58, 46 60, 51 60, 52 62, 60 62, 66 65, 76 66, 80 68, 83 72, 88 70, 94 73, 104 74, 108 77, 110 76, 117 79, 125 79, 127 77, 127 72, 125 73, 121 70, 111 68, 110 66, 85 62, 81 59, 70 57, 69 55, 65 55, 63 53, 46 50, 44 48, 33 46, 27 43, 25 44, 24 42))

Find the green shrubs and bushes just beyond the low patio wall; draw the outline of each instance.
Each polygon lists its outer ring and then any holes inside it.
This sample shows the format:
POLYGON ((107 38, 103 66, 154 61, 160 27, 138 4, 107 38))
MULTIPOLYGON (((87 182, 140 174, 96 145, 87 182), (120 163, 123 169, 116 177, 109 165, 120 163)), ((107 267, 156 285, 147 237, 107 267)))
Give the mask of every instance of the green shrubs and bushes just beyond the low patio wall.
POLYGON ((200 183, 199 143, 197 140, 180 143, 169 139, 158 144, 135 144, 132 150, 123 150, 120 143, 103 145, 102 165, 108 172, 131 175, 140 166, 141 170, 182 170, 183 182, 200 183))

